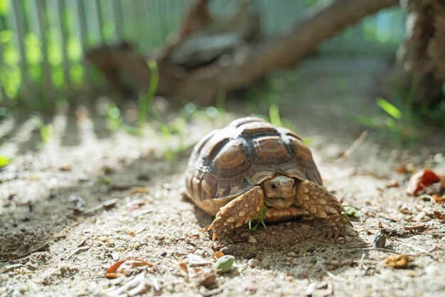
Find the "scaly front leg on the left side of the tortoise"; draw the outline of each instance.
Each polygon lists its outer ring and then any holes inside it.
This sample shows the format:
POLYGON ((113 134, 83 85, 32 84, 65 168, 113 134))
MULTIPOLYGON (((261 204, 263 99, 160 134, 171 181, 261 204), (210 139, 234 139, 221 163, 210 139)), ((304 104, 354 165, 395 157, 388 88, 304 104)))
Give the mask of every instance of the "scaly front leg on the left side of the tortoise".
POLYGON ((247 224, 257 217, 264 206, 264 193, 256 186, 227 203, 218 214, 208 230, 213 229, 212 239, 223 239, 231 229, 247 224))

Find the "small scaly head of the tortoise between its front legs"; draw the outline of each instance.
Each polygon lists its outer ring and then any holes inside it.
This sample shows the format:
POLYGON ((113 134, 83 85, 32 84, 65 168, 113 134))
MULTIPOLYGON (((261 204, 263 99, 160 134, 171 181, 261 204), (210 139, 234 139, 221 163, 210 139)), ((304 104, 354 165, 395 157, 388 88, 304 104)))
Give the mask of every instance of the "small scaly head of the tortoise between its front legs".
POLYGON ((277 209, 290 207, 295 201, 295 179, 277 175, 262 183, 264 203, 277 209))

